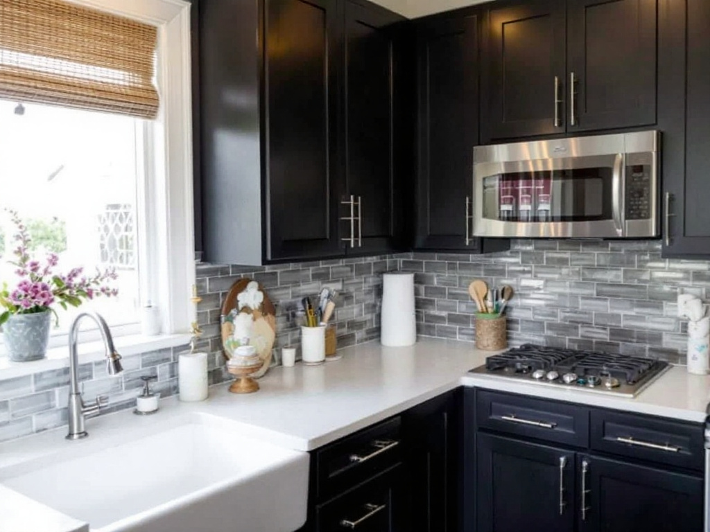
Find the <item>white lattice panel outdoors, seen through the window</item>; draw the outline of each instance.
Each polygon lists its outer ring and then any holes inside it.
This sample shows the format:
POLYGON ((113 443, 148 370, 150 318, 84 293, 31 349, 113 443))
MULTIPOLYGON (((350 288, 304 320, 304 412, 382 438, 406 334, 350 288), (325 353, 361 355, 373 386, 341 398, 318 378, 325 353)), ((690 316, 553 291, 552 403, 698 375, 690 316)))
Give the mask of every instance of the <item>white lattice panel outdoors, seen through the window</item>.
POLYGON ((110 204, 99 214, 101 260, 121 269, 136 267, 136 218, 133 206, 110 204))

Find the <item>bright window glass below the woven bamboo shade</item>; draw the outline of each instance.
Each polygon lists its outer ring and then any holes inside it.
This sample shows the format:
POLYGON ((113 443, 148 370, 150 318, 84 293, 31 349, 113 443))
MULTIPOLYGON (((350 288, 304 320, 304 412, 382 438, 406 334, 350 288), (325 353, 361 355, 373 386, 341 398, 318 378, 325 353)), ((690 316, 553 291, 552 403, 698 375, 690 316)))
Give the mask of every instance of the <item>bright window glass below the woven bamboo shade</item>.
MULTIPOLYGON (((34 255, 59 255, 56 272, 82 266, 91 274, 115 267, 119 297, 97 297, 80 309, 99 311, 111 325, 136 321, 138 293, 138 161, 136 118, 0 100, 0 209, 26 222, 34 255), (21 113, 23 111, 23 113, 21 113)), ((0 211, 0 279, 12 286, 6 265, 14 227, 0 211)), ((60 331, 76 309, 62 311, 60 331)), ((56 331, 55 331, 56 332, 56 331)))

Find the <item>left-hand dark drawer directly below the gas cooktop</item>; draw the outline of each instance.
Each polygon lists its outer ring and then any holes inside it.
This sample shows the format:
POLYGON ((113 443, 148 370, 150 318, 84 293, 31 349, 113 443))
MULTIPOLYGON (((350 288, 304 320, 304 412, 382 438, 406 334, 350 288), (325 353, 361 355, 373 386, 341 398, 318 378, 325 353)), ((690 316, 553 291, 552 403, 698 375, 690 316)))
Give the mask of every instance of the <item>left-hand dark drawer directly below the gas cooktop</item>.
POLYGON ((479 391, 476 420, 491 431, 578 447, 589 443, 589 410, 583 406, 479 391))

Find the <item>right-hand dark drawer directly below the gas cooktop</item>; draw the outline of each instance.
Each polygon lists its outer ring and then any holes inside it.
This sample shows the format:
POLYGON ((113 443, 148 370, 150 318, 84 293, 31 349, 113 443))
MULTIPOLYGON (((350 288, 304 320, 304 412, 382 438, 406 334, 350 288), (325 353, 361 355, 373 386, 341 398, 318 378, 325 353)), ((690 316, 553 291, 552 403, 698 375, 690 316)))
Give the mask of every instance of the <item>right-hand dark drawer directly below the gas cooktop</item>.
POLYGON ((624 412, 591 411, 591 448, 694 470, 704 464, 700 424, 624 412))

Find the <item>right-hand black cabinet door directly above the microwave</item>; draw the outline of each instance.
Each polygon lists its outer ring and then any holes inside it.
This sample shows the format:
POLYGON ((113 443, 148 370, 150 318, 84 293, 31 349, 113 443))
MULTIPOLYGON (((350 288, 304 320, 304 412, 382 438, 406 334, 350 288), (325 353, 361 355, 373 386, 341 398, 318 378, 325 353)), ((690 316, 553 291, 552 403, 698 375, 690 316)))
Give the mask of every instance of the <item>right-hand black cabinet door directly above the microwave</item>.
POLYGON ((567 131, 656 123, 656 30, 657 0, 567 0, 567 131))

